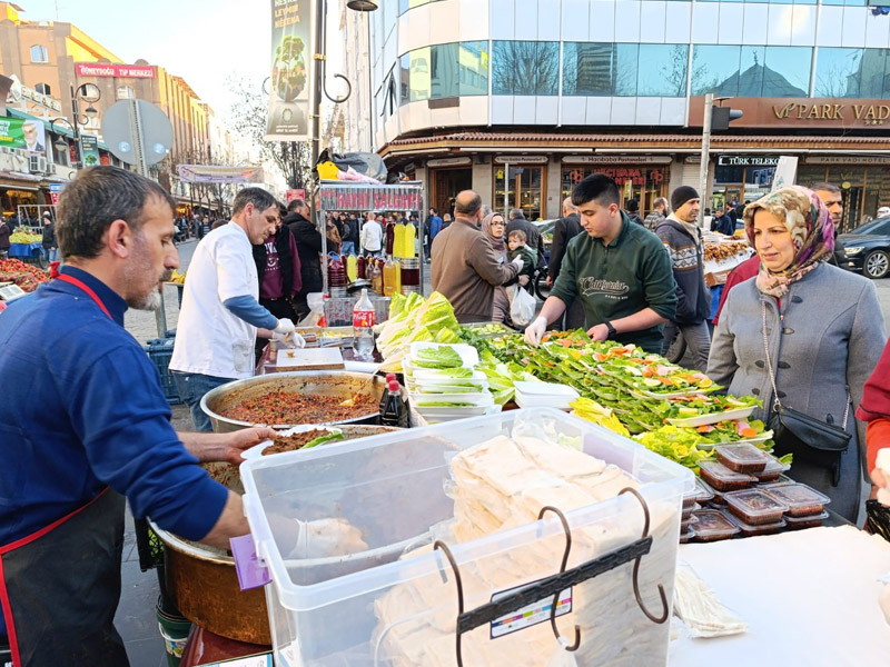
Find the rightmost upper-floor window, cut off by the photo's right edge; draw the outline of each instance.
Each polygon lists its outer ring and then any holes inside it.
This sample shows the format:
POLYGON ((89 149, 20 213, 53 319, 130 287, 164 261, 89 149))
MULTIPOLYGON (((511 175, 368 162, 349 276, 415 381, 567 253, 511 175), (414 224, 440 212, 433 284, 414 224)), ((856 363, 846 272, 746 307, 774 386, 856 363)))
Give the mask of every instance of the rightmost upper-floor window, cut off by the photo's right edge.
POLYGON ((890 98, 890 49, 820 48, 813 96, 890 98))

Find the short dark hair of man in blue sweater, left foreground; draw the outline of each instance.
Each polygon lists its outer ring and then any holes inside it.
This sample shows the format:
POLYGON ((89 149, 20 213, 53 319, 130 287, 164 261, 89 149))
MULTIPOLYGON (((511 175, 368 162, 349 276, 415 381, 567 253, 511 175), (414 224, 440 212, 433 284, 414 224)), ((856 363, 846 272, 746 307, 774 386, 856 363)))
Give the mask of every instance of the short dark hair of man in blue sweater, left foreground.
POLYGON ((102 236, 115 220, 125 220, 135 235, 141 233, 144 209, 152 198, 170 207, 172 221, 176 201, 156 181, 119 167, 82 169, 62 190, 56 211, 62 258, 98 257, 102 236))

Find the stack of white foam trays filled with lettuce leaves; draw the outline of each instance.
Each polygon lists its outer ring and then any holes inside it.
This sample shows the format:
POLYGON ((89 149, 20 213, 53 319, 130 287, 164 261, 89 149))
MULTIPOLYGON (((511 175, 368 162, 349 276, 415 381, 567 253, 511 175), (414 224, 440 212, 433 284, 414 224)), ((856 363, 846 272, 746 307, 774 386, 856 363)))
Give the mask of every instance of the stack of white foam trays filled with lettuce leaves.
MULTIPOLYGON (((415 342, 402 362, 405 387, 414 409, 428 422, 451 421, 501 411, 488 391, 485 374, 475 370, 478 352, 468 345, 415 342), (423 368, 416 365, 417 351, 431 347, 449 347, 461 356, 461 368, 472 370, 468 377, 455 378, 449 369, 423 368)), ((466 374, 463 374, 466 375, 466 374)))

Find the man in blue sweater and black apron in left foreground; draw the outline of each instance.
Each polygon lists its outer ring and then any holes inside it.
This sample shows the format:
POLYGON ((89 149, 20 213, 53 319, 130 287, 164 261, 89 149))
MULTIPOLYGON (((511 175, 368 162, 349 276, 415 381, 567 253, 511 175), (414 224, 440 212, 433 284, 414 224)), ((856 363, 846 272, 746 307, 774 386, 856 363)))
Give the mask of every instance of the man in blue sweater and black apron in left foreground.
POLYGON ((184 434, 157 371, 123 329, 158 306, 179 260, 175 206, 115 167, 81 171, 59 202, 58 279, 0 318, 0 640, 14 667, 128 665, 113 617, 125 496, 187 539, 226 547, 248 531, 240 497, 200 460, 240 461, 273 434, 184 434))

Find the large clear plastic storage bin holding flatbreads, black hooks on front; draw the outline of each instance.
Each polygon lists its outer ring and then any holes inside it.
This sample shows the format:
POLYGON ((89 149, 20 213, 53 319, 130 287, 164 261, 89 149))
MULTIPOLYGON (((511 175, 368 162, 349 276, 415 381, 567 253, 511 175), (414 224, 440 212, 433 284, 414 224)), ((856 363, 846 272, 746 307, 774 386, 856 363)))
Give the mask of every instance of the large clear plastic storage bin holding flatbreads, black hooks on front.
MULTIPOLYGON (((692 474, 632 440, 557 410, 515 410, 241 465, 245 510, 257 554, 273 579, 266 586, 266 600, 276 665, 424 665, 423 657, 390 651, 388 641, 396 635, 409 637, 429 624, 439 628, 443 650, 454 656, 457 589, 448 560, 442 551, 398 558, 406 547, 429 545, 433 534, 438 535, 436 526, 454 517, 454 501, 446 495, 452 480, 448 460, 493 437, 521 434, 575 445, 622 468, 640 484, 653 542, 640 564, 639 589, 647 609, 657 616, 662 610, 659 584, 669 604, 673 599, 680 510, 683 495, 694 488, 692 474), (297 521, 332 518, 357 528, 367 550, 340 557, 294 557, 297 521), (389 621, 382 623, 386 616, 382 606, 393 601, 399 587, 421 581, 434 595, 419 603, 414 598, 411 605, 392 605, 389 621)), ((633 542, 643 531, 643 509, 630 494, 565 516, 573 535, 570 569, 633 542)), ((562 525, 553 515, 481 539, 449 541, 462 571, 465 610, 492 601, 498 593, 557 574, 564 545, 562 525), (542 548, 554 557, 530 558, 542 548), (483 569, 497 574, 496 589, 474 585, 473 573, 483 569)), ((633 561, 576 585, 572 598, 570 613, 561 613, 557 625, 570 641, 573 625, 581 626, 581 647, 568 656, 577 665, 665 665, 670 623, 652 623, 637 606, 633 561)), ((563 649, 546 621, 551 599, 542 601, 544 609, 535 617, 543 623, 532 627, 496 639, 492 639, 491 624, 464 634, 464 664, 478 664, 473 653, 478 643, 496 641, 507 660, 503 664, 540 667, 524 653, 535 637, 550 643, 557 656, 563 649)))

